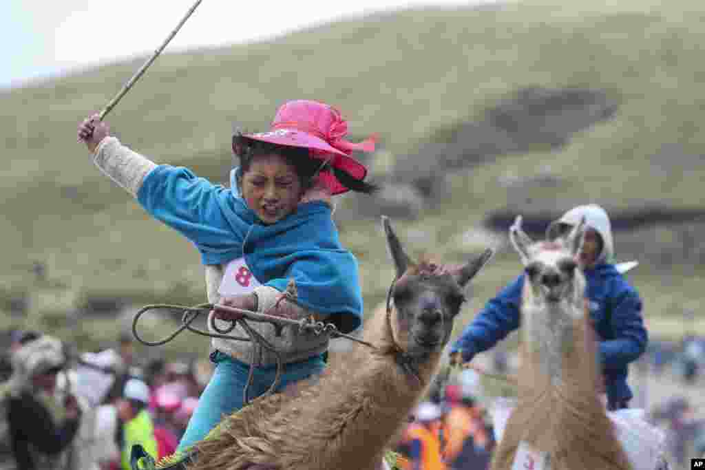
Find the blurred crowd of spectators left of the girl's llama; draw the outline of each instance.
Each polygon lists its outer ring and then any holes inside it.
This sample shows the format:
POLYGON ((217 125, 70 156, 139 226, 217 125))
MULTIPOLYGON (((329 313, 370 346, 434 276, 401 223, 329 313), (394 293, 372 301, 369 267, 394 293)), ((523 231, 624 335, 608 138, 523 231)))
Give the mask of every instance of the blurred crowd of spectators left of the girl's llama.
POLYGON ((137 443, 170 455, 212 373, 207 359, 140 364, 130 335, 83 353, 35 331, 7 337, 0 470, 129 470, 137 443))

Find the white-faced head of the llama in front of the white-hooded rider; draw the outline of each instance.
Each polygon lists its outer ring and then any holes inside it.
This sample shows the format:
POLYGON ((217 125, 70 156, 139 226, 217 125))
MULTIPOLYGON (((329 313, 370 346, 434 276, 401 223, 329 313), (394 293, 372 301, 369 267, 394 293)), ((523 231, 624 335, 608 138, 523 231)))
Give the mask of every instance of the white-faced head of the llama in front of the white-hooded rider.
POLYGON ((585 279, 578 263, 585 233, 585 219, 563 238, 551 242, 533 242, 522 230, 522 216, 509 228, 509 238, 524 264, 525 282, 534 300, 558 304, 568 300, 582 302, 585 279))

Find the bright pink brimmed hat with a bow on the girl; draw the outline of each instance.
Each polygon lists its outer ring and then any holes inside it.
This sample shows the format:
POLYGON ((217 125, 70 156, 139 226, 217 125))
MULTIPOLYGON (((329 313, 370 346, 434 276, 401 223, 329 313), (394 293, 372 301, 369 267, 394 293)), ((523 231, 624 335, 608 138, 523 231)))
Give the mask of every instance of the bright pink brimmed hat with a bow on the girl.
MULTIPOLYGON (((375 136, 355 144, 345 140, 347 134, 348 123, 341 117, 340 111, 327 104, 300 99, 288 101, 276 111, 268 132, 245 134, 245 137, 270 144, 311 149, 313 158, 329 160, 331 166, 345 171, 356 180, 364 180, 367 168, 351 154, 353 150, 374 151, 375 136)), ((332 194, 348 191, 332 173, 323 172, 321 178, 332 194)))

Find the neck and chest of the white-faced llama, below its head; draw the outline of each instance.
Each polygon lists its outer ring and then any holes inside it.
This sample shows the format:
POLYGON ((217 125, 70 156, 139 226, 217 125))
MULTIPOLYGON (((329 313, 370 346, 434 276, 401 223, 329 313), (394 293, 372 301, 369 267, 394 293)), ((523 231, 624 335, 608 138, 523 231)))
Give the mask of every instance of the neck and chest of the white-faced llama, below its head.
POLYGON ((546 304, 525 287, 522 332, 519 402, 493 469, 514 468, 522 441, 548 454, 549 469, 630 468, 596 393, 596 342, 582 295, 546 304))

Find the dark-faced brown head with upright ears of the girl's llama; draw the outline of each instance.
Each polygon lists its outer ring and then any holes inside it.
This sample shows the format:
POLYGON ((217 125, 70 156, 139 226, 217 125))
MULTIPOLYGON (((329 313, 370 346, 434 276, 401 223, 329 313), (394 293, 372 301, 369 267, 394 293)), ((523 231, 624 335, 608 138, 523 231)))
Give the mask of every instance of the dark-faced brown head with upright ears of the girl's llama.
POLYGON ((405 253, 386 216, 382 216, 382 225, 396 268, 396 282, 390 292, 394 305, 390 313, 391 334, 411 357, 440 353, 465 302, 465 286, 494 252, 486 249, 463 266, 444 266, 429 260, 415 262, 405 253))

